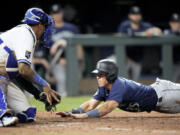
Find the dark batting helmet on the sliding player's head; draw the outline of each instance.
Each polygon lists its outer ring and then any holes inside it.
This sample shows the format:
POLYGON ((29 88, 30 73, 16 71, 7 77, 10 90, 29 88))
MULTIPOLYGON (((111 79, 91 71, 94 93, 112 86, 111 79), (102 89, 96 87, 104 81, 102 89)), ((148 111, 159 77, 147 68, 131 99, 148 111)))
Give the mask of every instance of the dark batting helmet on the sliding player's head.
POLYGON ((105 73, 108 82, 112 83, 118 77, 117 64, 109 59, 98 61, 96 69, 92 71, 93 74, 105 73))

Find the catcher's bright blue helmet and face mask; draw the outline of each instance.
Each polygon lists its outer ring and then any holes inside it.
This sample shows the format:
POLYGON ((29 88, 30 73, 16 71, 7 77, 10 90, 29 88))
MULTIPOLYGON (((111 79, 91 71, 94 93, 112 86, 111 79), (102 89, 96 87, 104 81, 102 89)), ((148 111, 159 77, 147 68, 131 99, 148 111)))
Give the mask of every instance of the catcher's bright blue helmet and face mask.
POLYGON ((45 31, 44 34, 42 35, 41 44, 43 44, 44 47, 46 48, 50 48, 50 44, 48 44, 47 42, 50 41, 50 36, 54 28, 54 19, 51 16, 46 14, 40 8, 30 8, 27 10, 22 22, 28 25, 37 25, 37 24, 44 25, 45 31))

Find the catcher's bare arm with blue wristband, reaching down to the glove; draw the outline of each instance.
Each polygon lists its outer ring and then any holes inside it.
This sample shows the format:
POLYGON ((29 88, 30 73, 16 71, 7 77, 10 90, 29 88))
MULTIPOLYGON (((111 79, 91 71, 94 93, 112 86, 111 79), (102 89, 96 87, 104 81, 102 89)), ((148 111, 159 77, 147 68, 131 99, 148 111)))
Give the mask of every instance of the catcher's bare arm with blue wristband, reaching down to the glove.
POLYGON ((35 83, 36 85, 43 88, 43 91, 46 93, 47 100, 50 104, 52 104, 52 98, 54 98, 57 102, 59 102, 59 99, 57 98, 57 96, 59 95, 55 91, 51 90, 49 84, 38 74, 36 74, 31 69, 29 64, 25 62, 19 62, 18 70, 19 70, 19 74, 21 74, 26 80, 30 80, 32 83, 35 83))

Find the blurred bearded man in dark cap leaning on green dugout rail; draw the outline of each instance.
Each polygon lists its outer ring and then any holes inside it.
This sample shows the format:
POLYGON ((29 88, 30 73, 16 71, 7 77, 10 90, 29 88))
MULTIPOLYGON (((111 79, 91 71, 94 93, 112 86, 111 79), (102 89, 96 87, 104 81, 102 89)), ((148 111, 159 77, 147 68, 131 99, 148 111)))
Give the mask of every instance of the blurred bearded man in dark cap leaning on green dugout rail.
MULTIPOLYGON (((123 21, 118 32, 128 36, 159 36, 161 30, 154 27, 149 22, 144 22, 142 12, 138 6, 133 6, 129 10, 128 19, 123 21)), ((143 57, 143 47, 127 47, 126 71, 128 78, 138 81, 141 74, 141 60, 143 57)))

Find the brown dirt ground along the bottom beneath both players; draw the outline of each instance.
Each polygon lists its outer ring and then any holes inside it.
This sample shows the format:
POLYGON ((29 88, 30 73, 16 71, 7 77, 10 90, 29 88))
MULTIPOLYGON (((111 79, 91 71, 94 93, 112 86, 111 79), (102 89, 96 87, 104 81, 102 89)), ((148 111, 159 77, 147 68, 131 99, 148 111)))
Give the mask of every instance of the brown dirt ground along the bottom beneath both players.
POLYGON ((35 123, 0 128, 0 135, 180 135, 180 114, 118 111, 79 120, 40 112, 36 119, 35 123))

